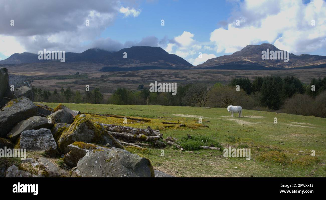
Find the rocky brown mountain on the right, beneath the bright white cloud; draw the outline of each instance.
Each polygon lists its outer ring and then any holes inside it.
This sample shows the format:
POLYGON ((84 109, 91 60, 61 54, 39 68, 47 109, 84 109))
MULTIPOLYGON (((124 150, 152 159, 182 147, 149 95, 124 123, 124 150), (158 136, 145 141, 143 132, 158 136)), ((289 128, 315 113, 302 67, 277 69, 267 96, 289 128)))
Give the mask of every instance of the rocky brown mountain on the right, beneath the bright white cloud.
POLYGON ((247 45, 241 51, 231 55, 208 59, 195 69, 289 69, 289 68, 318 68, 319 65, 326 64, 326 56, 301 54, 294 55, 289 53, 289 62, 284 60, 263 60, 261 52, 281 51, 272 44, 263 43, 260 45, 247 45))

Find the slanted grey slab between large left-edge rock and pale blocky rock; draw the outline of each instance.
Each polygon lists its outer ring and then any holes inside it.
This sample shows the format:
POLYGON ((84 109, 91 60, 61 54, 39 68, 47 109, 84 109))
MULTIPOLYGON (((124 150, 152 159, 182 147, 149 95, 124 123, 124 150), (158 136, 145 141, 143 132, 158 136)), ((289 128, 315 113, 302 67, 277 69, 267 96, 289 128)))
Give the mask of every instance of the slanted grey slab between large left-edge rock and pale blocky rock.
POLYGON ((37 129, 51 129, 53 127, 52 123, 48 123, 46 117, 33 116, 28 119, 22 120, 11 129, 7 134, 10 141, 15 142, 16 139, 21 135, 23 131, 27 130, 37 130, 37 129))

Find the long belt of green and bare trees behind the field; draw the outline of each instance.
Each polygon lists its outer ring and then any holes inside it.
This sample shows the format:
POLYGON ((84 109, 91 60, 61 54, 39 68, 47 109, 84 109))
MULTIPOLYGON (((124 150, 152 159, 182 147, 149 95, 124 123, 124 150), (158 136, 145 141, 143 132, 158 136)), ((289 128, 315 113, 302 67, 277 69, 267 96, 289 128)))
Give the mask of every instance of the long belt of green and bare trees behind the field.
POLYGON ((326 117, 326 77, 313 78, 303 84, 297 77, 264 76, 253 81, 248 78, 233 78, 230 84, 216 83, 212 87, 204 84, 178 85, 176 95, 168 92, 150 92, 139 85, 133 91, 117 88, 104 100, 100 89, 81 93, 61 87, 41 90, 33 87, 34 100, 62 103, 101 103, 118 105, 166 105, 226 108, 240 105, 249 110, 278 111, 297 115, 326 117))

